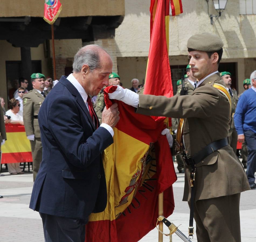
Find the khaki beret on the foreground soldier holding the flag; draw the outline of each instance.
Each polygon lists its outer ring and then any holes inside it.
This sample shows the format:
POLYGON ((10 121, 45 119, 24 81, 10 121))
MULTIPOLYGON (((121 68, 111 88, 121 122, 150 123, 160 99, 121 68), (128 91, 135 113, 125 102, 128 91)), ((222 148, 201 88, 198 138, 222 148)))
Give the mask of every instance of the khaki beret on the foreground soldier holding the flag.
MULTIPOLYGON (((202 33, 192 35, 188 39, 187 48, 199 51, 218 51, 223 47, 223 41, 215 34, 202 33)), ((190 50, 189 50, 190 51, 190 50)))

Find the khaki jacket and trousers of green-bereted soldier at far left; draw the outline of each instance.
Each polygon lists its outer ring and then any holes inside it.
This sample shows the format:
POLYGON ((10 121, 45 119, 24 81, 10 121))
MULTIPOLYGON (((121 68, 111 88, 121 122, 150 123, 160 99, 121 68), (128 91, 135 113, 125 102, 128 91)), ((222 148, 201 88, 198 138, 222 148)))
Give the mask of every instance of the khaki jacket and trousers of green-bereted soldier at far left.
MULTIPOLYGON (((44 91, 45 95, 48 94, 44 91)), ((25 126, 26 136, 35 136, 34 140, 30 140, 32 158, 33 158, 33 180, 36 179, 37 172, 42 160, 42 143, 40 138, 40 129, 38 123, 38 112, 44 101, 44 96, 36 89, 33 89, 23 96, 23 122, 25 126)))

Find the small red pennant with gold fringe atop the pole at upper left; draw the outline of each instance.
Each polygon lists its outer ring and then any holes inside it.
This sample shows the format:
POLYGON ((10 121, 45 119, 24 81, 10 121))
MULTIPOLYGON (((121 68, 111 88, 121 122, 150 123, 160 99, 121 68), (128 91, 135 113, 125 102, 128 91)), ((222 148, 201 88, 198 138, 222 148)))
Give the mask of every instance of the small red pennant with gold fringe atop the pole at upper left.
POLYGON ((44 3, 44 20, 49 24, 53 24, 58 18, 61 9, 60 0, 46 0, 44 3))

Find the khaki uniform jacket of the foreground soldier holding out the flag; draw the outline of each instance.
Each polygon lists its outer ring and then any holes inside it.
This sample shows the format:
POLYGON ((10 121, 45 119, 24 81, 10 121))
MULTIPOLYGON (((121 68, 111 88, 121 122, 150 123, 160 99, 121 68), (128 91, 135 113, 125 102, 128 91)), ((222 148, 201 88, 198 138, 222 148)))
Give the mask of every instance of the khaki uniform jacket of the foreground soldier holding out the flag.
MULTIPOLYGON (((192 95, 167 98, 139 95, 137 113, 152 116, 185 118, 183 138, 188 155, 228 137, 230 105, 214 83, 224 82, 213 74, 196 88, 192 95)), ((186 166, 183 201, 189 201, 190 167, 186 166)), ((243 166, 230 145, 217 150, 196 165, 195 201, 232 195, 250 190, 243 166)))

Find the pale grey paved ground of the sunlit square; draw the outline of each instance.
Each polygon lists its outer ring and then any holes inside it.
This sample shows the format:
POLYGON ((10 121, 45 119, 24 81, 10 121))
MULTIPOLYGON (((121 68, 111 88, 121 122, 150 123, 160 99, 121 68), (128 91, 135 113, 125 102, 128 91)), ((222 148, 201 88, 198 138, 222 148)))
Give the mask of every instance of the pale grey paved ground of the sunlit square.
MULTIPOLYGON (((177 166, 177 164, 175 164, 177 166)), ((3 242, 40 242, 44 241, 42 222, 38 212, 28 208, 30 195, 33 187, 32 172, 25 171, 24 175, 9 175, 0 177, 0 241, 3 242)), ((182 202, 184 174, 177 173, 178 180, 173 186, 175 209, 168 218, 179 229, 187 235, 189 209, 186 202, 182 202)), ((256 190, 246 191, 241 194, 240 217, 242 241, 255 241, 256 227, 256 190)), ((168 229, 164 227, 164 232, 168 229)), ((173 241, 182 241, 176 234, 173 241)), ((149 232, 140 241, 158 241, 158 231, 156 229, 149 232)), ((163 241, 168 242, 169 237, 164 236, 163 241)), ((196 236, 192 240, 196 242, 196 236)), ((123 241, 125 242, 125 241, 123 241)))

